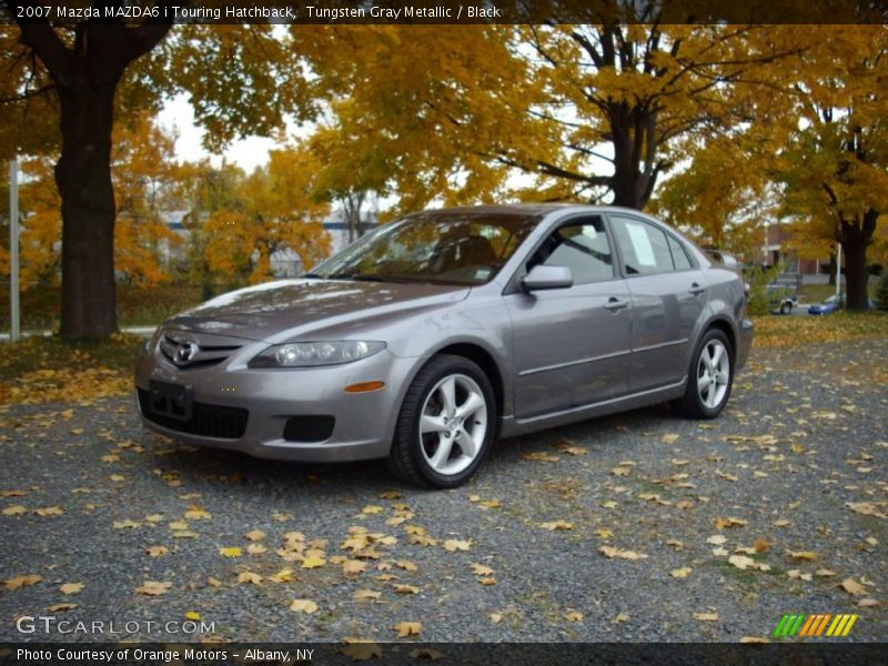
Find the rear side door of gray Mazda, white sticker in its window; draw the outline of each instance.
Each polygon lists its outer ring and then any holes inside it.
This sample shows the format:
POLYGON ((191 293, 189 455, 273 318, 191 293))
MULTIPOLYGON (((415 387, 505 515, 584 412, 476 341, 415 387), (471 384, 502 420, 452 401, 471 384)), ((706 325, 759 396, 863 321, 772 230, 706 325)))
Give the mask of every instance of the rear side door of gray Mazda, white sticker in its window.
POLYGON ((679 382, 708 299, 704 274, 677 236, 624 213, 608 220, 633 302, 629 391, 679 382))

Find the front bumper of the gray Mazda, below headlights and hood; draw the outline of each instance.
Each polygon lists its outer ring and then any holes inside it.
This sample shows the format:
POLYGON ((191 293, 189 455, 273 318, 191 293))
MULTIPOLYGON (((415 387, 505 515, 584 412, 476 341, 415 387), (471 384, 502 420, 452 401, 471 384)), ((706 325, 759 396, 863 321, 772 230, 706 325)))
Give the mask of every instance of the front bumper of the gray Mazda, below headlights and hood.
MULTIPOLYGON (((239 357, 252 356, 264 346, 245 347, 239 357)), ((135 386, 142 423, 174 440, 270 460, 360 461, 389 455, 416 361, 383 350, 369 359, 325 367, 260 370, 230 359, 209 367, 180 370, 159 352, 143 352, 137 361, 135 386), (191 418, 154 414, 150 406, 152 381, 186 387, 194 405, 191 418), (344 391, 353 384, 380 381, 385 382, 381 390, 344 391), (329 423, 332 417, 332 428, 320 435, 323 438, 311 432, 300 434, 297 427, 287 430, 287 423, 292 425, 296 422, 291 420, 299 417, 297 423, 311 423, 313 417, 329 423)))

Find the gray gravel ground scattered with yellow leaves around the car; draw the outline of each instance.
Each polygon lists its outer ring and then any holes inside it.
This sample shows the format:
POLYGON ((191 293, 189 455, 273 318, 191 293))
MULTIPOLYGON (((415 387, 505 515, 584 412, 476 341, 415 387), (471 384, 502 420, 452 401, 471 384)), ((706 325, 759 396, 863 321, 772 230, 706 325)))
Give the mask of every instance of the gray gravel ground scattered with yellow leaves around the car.
POLYGON ((886 339, 755 351, 714 422, 664 406, 503 442, 450 492, 178 445, 132 400, 0 408, 0 640, 94 639, 17 630, 41 614, 153 640, 200 638, 163 627, 196 613, 226 640, 713 642, 856 613, 845 640, 885 642, 887 360, 886 339))

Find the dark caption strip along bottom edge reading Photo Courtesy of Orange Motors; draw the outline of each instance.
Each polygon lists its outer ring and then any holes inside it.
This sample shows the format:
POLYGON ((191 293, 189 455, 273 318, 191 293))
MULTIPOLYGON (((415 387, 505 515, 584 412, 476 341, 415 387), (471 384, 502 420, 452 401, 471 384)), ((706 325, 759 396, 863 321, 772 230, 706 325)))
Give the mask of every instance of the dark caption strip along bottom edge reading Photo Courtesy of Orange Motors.
POLYGON ((886 648, 888 645, 884 643, 20 643, 0 644, 0 665, 325 666, 366 662, 386 666, 423 663, 442 666, 869 666, 888 664, 886 648))

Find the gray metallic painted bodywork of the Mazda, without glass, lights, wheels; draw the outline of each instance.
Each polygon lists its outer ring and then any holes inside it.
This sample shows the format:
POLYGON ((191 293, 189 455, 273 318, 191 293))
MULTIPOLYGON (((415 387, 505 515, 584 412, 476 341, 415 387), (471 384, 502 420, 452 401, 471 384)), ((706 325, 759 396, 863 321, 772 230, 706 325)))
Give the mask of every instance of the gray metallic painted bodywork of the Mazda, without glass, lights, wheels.
POLYGON ((471 210, 514 211, 542 219, 487 284, 286 280, 224 294, 164 322, 167 331, 223 335, 243 346, 218 365, 181 370, 154 344, 137 362, 137 386, 148 389, 149 380, 189 384, 195 401, 246 406, 250 420, 246 433, 236 441, 186 435, 144 417, 143 423, 178 440, 259 457, 364 460, 389 454, 413 377, 431 356, 452 345, 474 345, 495 364, 502 383, 503 437, 680 396, 690 353, 713 323, 726 326, 735 341, 735 370, 744 365, 753 331, 744 319, 739 278, 714 266, 670 228, 636 211, 619 211, 680 239, 696 264, 692 271, 653 276, 656 280, 616 275, 605 282, 526 293, 519 286, 526 258, 554 228, 577 216, 606 215, 618 209, 539 205, 471 210), (706 283, 704 294, 689 294, 690 283, 700 280, 706 283), (578 297, 594 305, 571 311, 571 303, 578 297), (632 302, 608 311, 604 305, 610 297, 632 302), (607 334, 576 335, 576 331, 602 330, 607 334), (269 344, 349 339, 384 341, 387 349, 336 366, 248 367, 269 344), (386 387, 364 394, 343 392, 349 384, 376 380, 386 387), (333 436, 326 442, 285 442, 283 423, 302 414, 335 416, 333 436))

